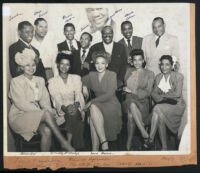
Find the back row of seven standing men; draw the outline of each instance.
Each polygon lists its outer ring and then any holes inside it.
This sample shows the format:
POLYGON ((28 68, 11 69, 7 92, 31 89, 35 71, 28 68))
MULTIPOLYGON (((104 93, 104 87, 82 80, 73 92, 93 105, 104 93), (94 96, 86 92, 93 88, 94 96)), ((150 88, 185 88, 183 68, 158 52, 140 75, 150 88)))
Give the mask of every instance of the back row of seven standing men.
MULTIPOLYGON (((19 40, 9 47, 9 63, 12 77, 22 72, 15 62, 15 54, 22 52, 25 48, 33 49, 36 53, 38 65, 35 75, 42 76, 47 81, 58 75, 55 58, 58 52, 73 54, 73 66, 71 72, 84 76, 89 71, 95 70, 92 61, 92 53, 95 51, 106 51, 111 55, 109 70, 117 73, 118 87, 123 85, 123 77, 126 68, 131 65, 129 53, 133 49, 143 49, 146 61, 146 68, 156 74, 159 70, 159 59, 162 55, 171 55, 179 58, 178 40, 165 32, 166 24, 161 17, 154 18, 152 22, 153 33, 144 38, 133 36, 133 26, 130 21, 121 24, 123 38, 119 42, 113 41, 112 26, 104 26, 101 30, 102 42, 92 45, 93 36, 83 32, 80 41, 75 39, 75 26, 72 23, 64 25, 66 39, 57 44, 53 35, 48 34, 48 23, 44 18, 37 18, 35 27, 23 21, 18 24, 19 40), (35 32, 34 32, 35 31, 35 32), (91 46, 92 45, 92 46, 91 46)), ((177 69, 179 63, 176 61, 177 69)))

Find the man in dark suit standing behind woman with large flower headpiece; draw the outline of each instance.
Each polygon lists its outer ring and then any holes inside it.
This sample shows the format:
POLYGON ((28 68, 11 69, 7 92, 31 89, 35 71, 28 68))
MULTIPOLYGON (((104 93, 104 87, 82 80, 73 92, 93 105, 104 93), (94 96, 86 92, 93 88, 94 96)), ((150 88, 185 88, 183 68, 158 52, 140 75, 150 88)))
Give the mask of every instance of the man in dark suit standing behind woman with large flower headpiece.
POLYGON ((45 79, 45 81, 47 81, 42 60, 39 58, 39 51, 30 44, 33 39, 33 25, 28 21, 20 22, 18 24, 18 34, 20 37, 19 40, 9 47, 9 65, 11 76, 16 77, 23 73, 21 68, 15 62, 15 55, 18 52, 22 53, 25 48, 28 48, 32 49, 36 54, 35 61, 37 68, 34 75, 41 76, 45 79))

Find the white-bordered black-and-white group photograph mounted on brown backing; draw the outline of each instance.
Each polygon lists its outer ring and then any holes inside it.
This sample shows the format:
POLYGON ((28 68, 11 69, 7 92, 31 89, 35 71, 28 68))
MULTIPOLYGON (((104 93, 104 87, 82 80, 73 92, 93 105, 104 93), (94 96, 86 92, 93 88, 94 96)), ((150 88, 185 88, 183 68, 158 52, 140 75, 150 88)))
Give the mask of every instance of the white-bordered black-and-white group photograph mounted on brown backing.
POLYGON ((3 32, 4 155, 190 154, 190 4, 7 3, 3 32))

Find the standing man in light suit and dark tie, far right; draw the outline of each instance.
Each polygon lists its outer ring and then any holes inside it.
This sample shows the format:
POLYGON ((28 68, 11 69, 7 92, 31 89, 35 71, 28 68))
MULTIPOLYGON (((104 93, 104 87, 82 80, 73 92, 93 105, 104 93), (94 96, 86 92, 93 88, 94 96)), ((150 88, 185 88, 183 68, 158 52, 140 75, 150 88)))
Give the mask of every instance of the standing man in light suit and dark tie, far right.
POLYGON ((153 33, 144 37, 142 49, 145 55, 146 68, 156 74, 160 73, 159 59, 162 55, 176 57, 176 70, 179 68, 179 46, 177 37, 165 32, 166 24, 161 17, 152 22, 153 33))

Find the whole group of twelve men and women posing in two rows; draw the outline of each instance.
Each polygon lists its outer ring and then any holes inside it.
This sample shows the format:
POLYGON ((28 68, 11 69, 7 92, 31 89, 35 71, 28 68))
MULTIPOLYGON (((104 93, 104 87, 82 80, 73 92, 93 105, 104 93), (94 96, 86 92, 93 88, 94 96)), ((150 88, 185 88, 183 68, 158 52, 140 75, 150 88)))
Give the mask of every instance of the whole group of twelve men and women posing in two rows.
POLYGON ((119 42, 113 41, 113 29, 106 25, 102 42, 94 45, 88 32, 77 41, 75 26, 67 23, 66 40, 57 44, 56 54, 47 21, 38 18, 34 25, 20 22, 20 38, 9 48, 13 78, 8 120, 15 133, 26 141, 39 133, 41 151, 51 150, 52 134, 62 150, 82 151, 87 122, 92 151, 108 151, 109 142, 121 132, 122 116, 127 116, 128 151, 136 127, 145 150, 153 147, 157 131, 162 150, 167 150, 166 128, 177 133, 185 102, 178 41, 165 33, 161 17, 153 20, 153 33, 145 38, 133 36, 130 21, 122 22, 124 38, 119 42), (63 124, 66 135, 59 128, 63 124))

